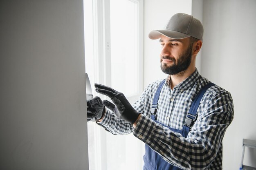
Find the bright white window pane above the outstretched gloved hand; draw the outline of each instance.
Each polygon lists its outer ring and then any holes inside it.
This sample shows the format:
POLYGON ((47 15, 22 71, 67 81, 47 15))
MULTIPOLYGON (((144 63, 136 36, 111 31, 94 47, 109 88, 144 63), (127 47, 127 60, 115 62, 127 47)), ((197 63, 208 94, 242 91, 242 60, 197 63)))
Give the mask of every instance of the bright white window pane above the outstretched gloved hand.
POLYGON ((111 85, 127 97, 138 93, 137 3, 110 0, 111 85))

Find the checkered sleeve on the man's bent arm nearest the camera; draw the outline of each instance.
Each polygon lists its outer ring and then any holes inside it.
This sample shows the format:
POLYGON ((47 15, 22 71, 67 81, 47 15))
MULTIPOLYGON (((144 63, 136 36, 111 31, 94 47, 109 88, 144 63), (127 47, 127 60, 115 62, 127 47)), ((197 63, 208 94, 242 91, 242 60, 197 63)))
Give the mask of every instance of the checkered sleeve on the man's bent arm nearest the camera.
POLYGON ((227 91, 206 95, 202 101, 198 119, 186 138, 145 115, 141 115, 133 135, 177 167, 206 169, 217 155, 234 110, 227 91))

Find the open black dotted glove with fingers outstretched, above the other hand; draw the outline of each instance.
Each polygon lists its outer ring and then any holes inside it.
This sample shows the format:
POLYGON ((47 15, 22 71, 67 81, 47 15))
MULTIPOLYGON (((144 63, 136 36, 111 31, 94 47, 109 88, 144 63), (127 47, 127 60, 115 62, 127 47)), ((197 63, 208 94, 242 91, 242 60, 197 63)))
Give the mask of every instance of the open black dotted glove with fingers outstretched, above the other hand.
POLYGON ((118 109, 118 113, 115 113, 120 119, 128 121, 131 125, 135 123, 140 113, 138 113, 128 102, 123 93, 115 91, 114 89, 101 84, 94 84, 95 91, 110 97, 118 109))

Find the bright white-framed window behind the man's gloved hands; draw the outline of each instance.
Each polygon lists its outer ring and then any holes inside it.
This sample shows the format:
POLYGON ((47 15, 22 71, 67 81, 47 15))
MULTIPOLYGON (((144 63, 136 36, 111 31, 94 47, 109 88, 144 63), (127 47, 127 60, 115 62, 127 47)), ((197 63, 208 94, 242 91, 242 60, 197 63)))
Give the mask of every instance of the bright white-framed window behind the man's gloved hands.
MULTIPOLYGON (((142 92, 143 0, 84 0, 85 71, 129 102, 142 92)), ((106 97, 94 93, 101 99, 106 97)), ((90 170, 140 170, 144 144, 130 135, 112 135, 88 122, 90 170), (133 162, 133 163, 130 163, 133 162)))

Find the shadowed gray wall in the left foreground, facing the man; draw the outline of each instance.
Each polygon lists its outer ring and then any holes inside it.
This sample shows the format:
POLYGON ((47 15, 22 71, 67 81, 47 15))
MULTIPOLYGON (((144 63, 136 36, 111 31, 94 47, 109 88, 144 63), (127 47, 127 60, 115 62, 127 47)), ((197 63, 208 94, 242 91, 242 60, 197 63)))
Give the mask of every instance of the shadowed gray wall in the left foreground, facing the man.
POLYGON ((0 1, 0 169, 88 169, 83 0, 0 1))

